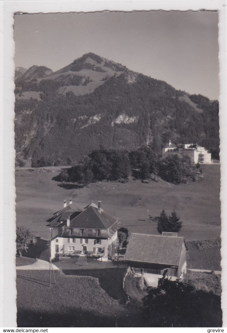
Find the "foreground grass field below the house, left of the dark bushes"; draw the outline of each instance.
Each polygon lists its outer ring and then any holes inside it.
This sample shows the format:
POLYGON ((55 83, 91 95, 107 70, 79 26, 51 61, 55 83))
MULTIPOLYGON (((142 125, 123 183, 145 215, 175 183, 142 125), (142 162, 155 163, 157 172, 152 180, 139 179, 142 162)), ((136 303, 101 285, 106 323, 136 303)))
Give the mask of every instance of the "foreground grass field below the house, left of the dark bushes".
MULTIPOLYGON (((140 311, 111 298, 99 280, 55 271, 17 271, 18 327, 136 327, 140 311)), ((140 327, 140 326, 139 326, 140 327)))

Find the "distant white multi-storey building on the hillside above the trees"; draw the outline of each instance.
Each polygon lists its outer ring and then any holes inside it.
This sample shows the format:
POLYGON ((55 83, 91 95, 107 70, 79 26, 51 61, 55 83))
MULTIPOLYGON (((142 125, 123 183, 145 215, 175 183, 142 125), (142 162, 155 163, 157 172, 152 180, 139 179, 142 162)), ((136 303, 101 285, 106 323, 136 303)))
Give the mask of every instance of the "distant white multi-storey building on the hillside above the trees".
POLYGON ((211 164, 211 154, 207 149, 197 144, 174 145, 169 140, 162 151, 162 158, 177 154, 179 157, 188 156, 192 163, 211 164))

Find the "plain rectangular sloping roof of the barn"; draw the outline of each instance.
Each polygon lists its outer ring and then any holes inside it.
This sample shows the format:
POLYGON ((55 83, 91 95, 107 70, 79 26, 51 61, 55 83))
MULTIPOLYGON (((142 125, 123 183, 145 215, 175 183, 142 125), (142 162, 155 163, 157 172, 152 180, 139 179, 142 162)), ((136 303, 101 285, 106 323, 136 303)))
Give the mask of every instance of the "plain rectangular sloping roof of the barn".
POLYGON ((132 233, 124 259, 178 266, 183 242, 184 237, 132 233))

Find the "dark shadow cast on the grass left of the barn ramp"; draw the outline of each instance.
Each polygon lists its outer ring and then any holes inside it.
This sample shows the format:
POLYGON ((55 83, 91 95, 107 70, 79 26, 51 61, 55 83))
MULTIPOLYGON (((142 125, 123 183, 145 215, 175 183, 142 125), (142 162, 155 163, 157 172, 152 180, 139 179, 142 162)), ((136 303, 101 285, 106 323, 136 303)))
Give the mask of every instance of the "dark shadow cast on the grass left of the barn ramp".
POLYGON ((100 286, 107 294, 125 304, 127 296, 123 290, 123 277, 125 267, 103 268, 103 269, 81 269, 81 270, 63 270, 66 275, 93 276, 99 279, 100 286))

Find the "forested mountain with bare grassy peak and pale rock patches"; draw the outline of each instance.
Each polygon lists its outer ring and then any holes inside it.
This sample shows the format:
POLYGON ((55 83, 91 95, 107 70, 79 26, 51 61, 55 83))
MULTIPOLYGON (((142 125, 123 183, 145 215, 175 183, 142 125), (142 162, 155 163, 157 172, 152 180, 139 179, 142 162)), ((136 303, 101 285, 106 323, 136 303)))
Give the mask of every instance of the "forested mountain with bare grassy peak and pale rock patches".
POLYGON ((100 145, 158 152, 198 143, 219 153, 218 101, 178 91, 93 53, 52 72, 32 66, 15 79, 17 156, 50 162, 87 155, 100 145))

